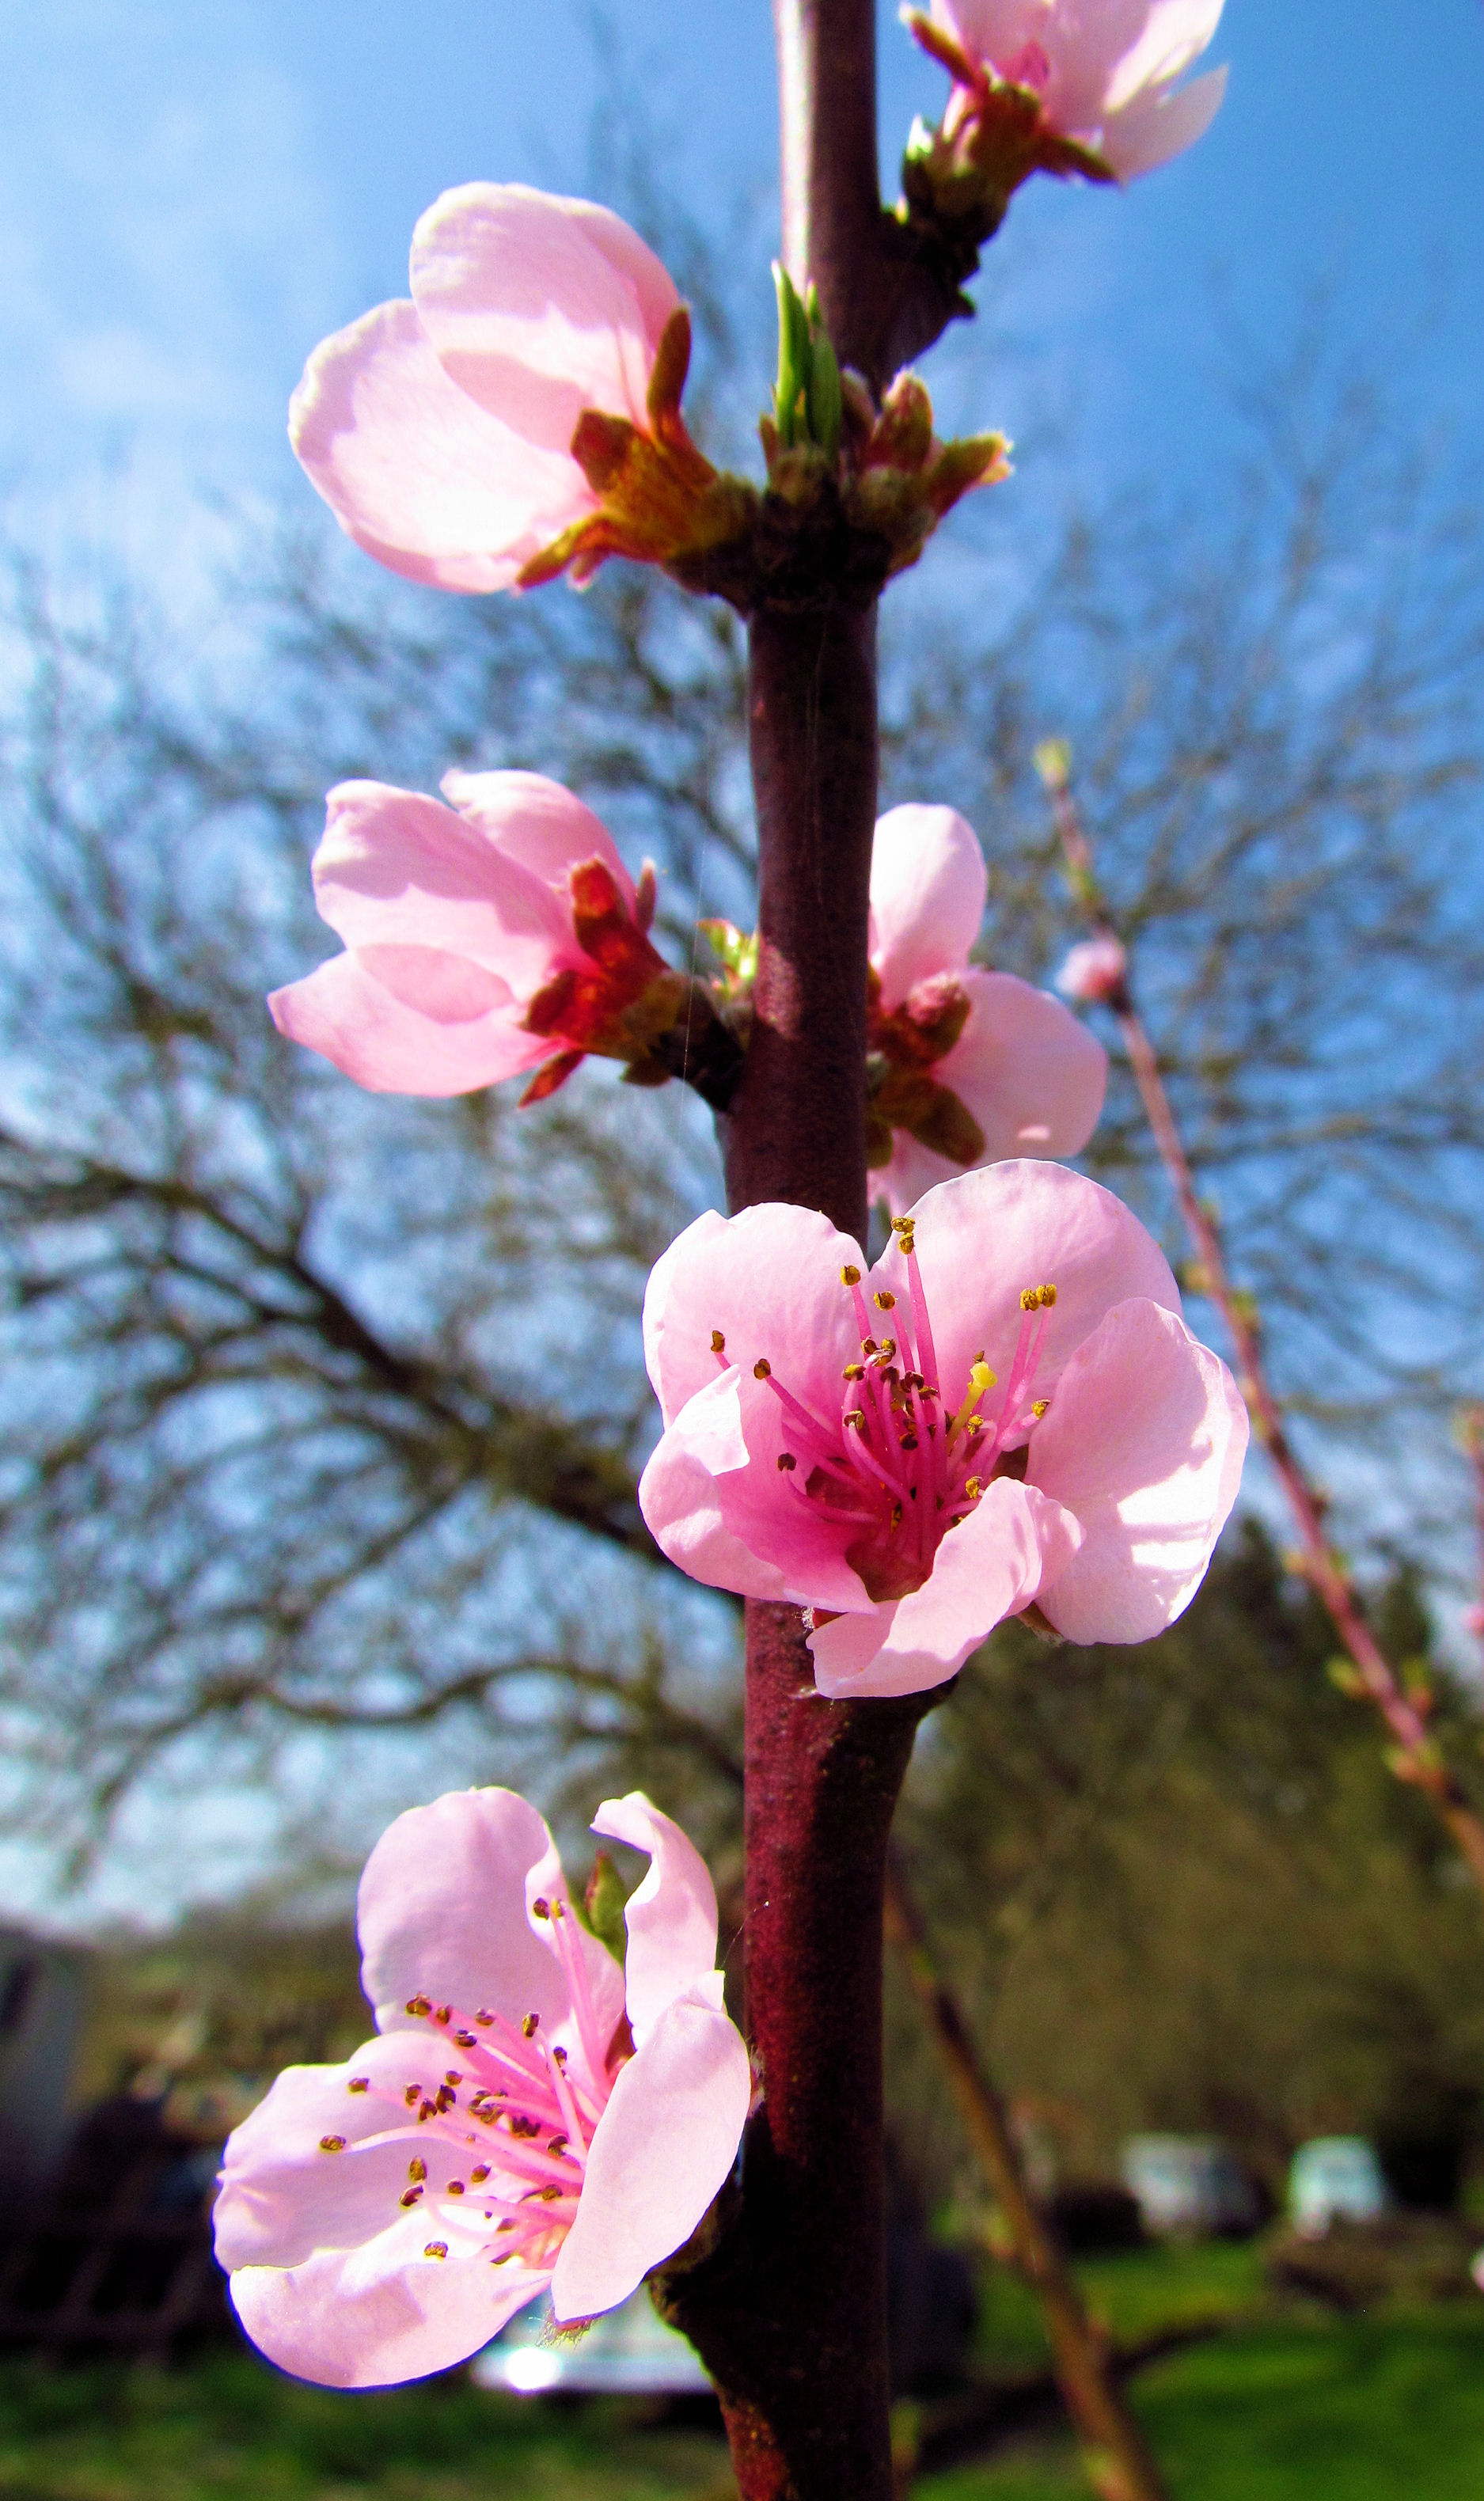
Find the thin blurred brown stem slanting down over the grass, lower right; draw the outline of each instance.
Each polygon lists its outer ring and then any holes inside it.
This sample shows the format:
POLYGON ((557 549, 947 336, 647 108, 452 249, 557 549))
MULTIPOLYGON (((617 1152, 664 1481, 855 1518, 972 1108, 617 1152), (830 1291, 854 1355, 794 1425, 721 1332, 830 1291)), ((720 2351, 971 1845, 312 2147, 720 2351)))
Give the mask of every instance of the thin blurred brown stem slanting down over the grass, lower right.
POLYGON ((903 1951, 906 1978, 938 2043, 963 2133, 1006 2221, 1011 2266, 1041 2303, 1056 2383, 1076 2426, 1089 2481, 1101 2501, 1169 2501, 1154 2453, 1114 2376, 1109 2346, 1094 2328, 1076 2278, 1026 2188, 1004 2103, 978 2063, 958 2001, 933 1963, 928 1931, 896 1861, 886 1873, 886 1933, 903 1951))

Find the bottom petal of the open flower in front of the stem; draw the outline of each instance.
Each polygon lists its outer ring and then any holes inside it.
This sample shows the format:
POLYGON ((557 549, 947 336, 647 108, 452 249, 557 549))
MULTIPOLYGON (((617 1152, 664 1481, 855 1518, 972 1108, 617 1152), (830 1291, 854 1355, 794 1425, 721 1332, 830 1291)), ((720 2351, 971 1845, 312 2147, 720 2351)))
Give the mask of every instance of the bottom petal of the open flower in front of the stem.
POLYGON ((1081 1546, 1061 1503, 1001 1476, 951 1528, 933 1571, 876 1616, 836 1616, 808 1636, 813 1681, 828 1701, 926 1693, 958 1673, 986 1633, 1056 1581, 1081 1546))

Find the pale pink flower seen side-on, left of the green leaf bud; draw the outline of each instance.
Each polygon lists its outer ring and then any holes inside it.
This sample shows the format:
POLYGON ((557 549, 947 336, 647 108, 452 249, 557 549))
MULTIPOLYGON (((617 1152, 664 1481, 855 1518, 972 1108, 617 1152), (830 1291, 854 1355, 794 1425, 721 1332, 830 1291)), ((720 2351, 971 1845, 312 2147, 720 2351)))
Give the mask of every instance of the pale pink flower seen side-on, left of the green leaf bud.
POLYGON ((418 220, 410 283, 323 340, 290 403, 303 468, 368 555, 508 590, 691 543, 716 485, 681 423, 691 323, 623 218, 465 183, 418 220))

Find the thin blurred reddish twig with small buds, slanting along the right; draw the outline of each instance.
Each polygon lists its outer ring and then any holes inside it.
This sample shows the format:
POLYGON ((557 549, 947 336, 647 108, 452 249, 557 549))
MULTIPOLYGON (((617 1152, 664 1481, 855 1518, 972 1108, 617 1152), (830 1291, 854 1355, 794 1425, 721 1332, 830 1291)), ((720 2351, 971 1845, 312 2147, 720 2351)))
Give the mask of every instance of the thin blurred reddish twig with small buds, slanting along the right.
MULTIPOLYGON (((1071 790, 1066 788, 1066 778, 1054 770, 1046 785, 1066 865, 1071 870, 1074 893, 1081 895, 1091 928, 1099 935, 1116 938, 1114 923, 1099 895, 1091 843, 1081 825, 1071 790)), ((1424 1711, 1419 1711, 1396 1683, 1396 1676, 1391 1673, 1391 1666, 1364 1618, 1359 1591, 1324 1533, 1324 1506, 1284 1428, 1284 1413, 1266 1376, 1259 1321, 1246 1308, 1244 1298, 1236 1296, 1226 1271, 1221 1233, 1216 1230, 1216 1220, 1209 1208, 1201 1205, 1196 1175, 1191 1173, 1174 1103, 1169 1100, 1159 1068, 1159 1053, 1134 1003, 1129 975, 1124 975, 1109 995, 1109 1008, 1119 1018, 1119 1033, 1124 1035, 1134 1083, 1139 1085, 1144 1113, 1149 1118, 1149 1128, 1154 1130, 1159 1160, 1169 1173, 1186 1233, 1191 1238, 1191 1250, 1201 1266, 1201 1293, 1216 1303, 1216 1311, 1226 1321, 1241 1396, 1251 1408, 1259 1441, 1264 1443, 1276 1478, 1289 1498, 1309 1586, 1319 1593, 1334 1631, 1351 1656, 1359 1691, 1369 1703, 1374 1703, 1386 1723, 1391 1736, 1389 1761, 1396 1778, 1419 1788, 1424 1798, 1429 1798, 1436 1816, 1454 1836, 1474 1883, 1484 1888, 1484 1821, 1474 1813, 1459 1778, 1444 1763, 1424 1711)))

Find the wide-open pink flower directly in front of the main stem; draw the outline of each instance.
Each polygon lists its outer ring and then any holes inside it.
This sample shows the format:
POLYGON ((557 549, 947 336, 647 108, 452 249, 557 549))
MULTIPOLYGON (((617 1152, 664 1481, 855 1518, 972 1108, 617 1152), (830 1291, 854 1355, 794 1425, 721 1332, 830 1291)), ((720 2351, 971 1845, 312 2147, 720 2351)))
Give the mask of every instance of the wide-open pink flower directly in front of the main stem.
POLYGON ((1246 1408, 1144 1225, 1059 1163, 943 1180, 881 1263, 811 1208, 701 1215, 643 1306, 638 1488, 696 1581, 813 1608, 831 1698, 918 1693, 1036 1601, 1149 1641, 1194 1596, 1246 1408))

